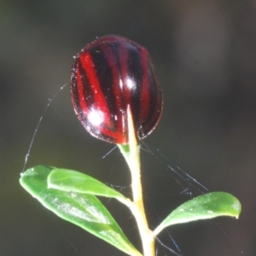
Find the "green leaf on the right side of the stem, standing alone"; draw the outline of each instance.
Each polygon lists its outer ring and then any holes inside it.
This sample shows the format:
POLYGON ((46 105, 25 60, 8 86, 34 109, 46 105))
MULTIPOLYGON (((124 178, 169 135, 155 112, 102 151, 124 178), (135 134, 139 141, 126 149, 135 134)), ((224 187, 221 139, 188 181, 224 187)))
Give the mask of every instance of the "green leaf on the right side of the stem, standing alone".
POLYGON ((229 193, 212 192, 206 195, 199 195, 190 201, 186 201, 171 212, 154 230, 154 236, 157 236, 161 230, 173 224, 187 223, 206 218, 216 218, 218 216, 238 218, 240 212, 240 201, 229 193))

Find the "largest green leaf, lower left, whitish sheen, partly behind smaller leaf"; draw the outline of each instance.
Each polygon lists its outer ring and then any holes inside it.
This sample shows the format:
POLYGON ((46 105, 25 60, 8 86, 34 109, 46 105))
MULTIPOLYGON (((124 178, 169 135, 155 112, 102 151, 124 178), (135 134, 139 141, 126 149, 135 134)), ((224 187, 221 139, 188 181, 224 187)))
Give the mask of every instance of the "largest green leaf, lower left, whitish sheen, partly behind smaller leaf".
POLYGON ((20 184, 44 207, 55 212, 59 217, 108 241, 127 254, 142 256, 96 196, 48 189, 47 177, 54 169, 56 168, 51 166, 36 166, 28 169, 22 173, 20 184))

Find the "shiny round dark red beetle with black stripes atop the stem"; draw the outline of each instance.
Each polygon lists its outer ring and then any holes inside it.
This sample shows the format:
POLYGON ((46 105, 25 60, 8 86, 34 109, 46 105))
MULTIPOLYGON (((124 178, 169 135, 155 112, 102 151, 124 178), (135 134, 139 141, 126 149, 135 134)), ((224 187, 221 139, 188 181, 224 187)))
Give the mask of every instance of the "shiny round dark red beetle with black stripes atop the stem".
POLYGON ((108 143, 128 143, 128 105, 138 139, 154 130, 162 112, 162 93, 148 50, 119 36, 98 38, 76 55, 71 96, 85 129, 108 143))

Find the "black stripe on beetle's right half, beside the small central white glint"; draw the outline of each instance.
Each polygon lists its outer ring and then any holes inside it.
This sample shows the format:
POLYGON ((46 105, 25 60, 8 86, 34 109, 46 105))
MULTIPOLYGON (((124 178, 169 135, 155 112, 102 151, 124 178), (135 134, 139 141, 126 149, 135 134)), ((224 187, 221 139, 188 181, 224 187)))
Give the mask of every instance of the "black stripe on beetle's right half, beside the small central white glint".
POLYGON ((143 67, 141 63, 141 54, 137 46, 132 45, 131 49, 128 49, 128 63, 127 72, 128 77, 131 77, 135 83, 136 87, 132 90, 131 96, 131 108, 133 120, 136 122, 136 130, 140 126, 140 100, 142 97, 142 85, 143 85, 143 67))

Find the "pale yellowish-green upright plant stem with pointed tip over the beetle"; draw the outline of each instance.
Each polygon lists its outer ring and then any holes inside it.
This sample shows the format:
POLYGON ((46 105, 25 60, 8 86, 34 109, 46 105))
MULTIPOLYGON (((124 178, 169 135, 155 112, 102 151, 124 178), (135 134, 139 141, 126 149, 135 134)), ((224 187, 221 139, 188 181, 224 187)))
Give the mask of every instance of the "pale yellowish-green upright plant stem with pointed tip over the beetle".
POLYGON ((137 221, 137 227, 143 242, 143 255, 155 256, 154 253, 154 234, 152 230, 148 229, 148 221, 146 218, 144 203, 143 203, 143 188, 141 182, 141 168, 140 168, 140 146, 137 143, 136 133, 134 131, 131 111, 128 106, 128 131, 129 131, 129 147, 119 145, 122 154, 131 171, 131 189, 133 194, 133 204, 131 205, 131 212, 137 221))

